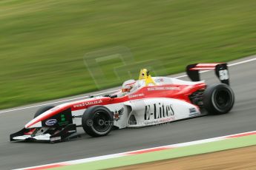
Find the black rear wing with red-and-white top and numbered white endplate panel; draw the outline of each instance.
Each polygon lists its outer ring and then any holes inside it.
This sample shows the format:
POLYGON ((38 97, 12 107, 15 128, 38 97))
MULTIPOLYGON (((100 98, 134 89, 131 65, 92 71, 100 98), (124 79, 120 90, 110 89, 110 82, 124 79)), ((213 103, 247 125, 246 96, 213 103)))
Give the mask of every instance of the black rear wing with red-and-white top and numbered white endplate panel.
POLYGON ((229 69, 226 63, 190 64, 186 67, 191 81, 200 81, 199 71, 201 70, 215 70, 215 75, 220 82, 229 85, 229 69))

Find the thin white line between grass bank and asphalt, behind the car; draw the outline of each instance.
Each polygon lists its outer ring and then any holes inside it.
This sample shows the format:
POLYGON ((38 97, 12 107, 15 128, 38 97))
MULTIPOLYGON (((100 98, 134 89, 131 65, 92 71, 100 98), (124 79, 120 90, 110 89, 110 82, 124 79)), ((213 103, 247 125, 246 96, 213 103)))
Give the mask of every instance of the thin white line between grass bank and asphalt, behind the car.
MULTIPOLYGON (((251 59, 248 59, 248 60, 245 60, 245 61, 239 61, 239 62, 234 63, 234 64, 228 64, 228 66, 232 67, 232 66, 236 66, 236 65, 239 65, 239 64, 245 64, 245 63, 248 63, 248 62, 251 62, 251 61, 256 61, 256 58, 251 58, 251 59)), ((201 73, 209 72, 209 71, 211 71, 211 70, 202 71, 201 73)), ((175 78, 184 78, 186 76, 187 75, 180 75, 180 76, 177 76, 175 78)), ((119 89, 112 90, 112 91, 109 91, 109 92, 116 92, 118 90, 119 89)), ((95 94, 95 95, 102 95, 102 94, 109 93, 109 92, 101 92, 101 93, 98 93, 98 94, 95 94)), ((13 112, 13 111, 18 111, 18 110, 22 110, 22 109, 30 109, 30 108, 34 108, 34 107, 38 107, 38 106, 45 106, 45 105, 54 104, 54 103, 62 103, 62 102, 65 102, 65 101, 74 101, 74 100, 77 100, 77 99, 88 98, 88 97, 89 96, 83 96, 83 97, 79 97, 79 98, 70 98, 70 99, 63 100, 63 101, 55 101, 55 102, 44 103, 44 104, 39 104, 39 105, 35 105, 35 106, 27 106, 27 107, 22 107, 22 108, 18 108, 18 109, 5 110, 5 111, 1 111, 0 115, 1 115, 1 113, 5 113, 5 112, 13 112)))

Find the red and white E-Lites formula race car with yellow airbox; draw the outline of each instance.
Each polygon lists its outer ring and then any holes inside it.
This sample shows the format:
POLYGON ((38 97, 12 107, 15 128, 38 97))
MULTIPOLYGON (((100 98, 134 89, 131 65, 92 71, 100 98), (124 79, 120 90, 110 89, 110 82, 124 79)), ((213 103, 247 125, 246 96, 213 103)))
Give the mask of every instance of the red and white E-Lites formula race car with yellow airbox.
POLYGON ((112 95, 92 96, 82 101, 44 106, 10 141, 70 140, 82 127, 88 135, 101 137, 111 129, 151 126, 206 114, 225 114, 234 105, 226 63, 191 64, 186 67, 191 81, 151 77, 140 71, 137 81, 125 81, 112 95), (213 69, 221 84, 200 81, 200 70, 213 69))

